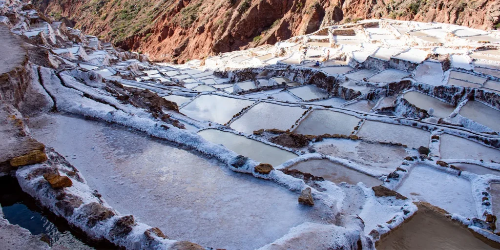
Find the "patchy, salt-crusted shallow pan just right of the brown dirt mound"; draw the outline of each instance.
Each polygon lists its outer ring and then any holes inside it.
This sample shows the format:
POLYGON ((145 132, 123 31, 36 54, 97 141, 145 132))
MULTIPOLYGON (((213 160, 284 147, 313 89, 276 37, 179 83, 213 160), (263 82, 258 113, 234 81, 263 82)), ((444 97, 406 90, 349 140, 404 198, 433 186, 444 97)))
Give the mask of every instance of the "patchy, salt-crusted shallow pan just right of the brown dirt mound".
POLYGON ((362 140, 325 138, 315 142, 313 148, 318 153, 350 160, 382 174, 395 171, 407 156, 402 146, 368 143, 362 140))

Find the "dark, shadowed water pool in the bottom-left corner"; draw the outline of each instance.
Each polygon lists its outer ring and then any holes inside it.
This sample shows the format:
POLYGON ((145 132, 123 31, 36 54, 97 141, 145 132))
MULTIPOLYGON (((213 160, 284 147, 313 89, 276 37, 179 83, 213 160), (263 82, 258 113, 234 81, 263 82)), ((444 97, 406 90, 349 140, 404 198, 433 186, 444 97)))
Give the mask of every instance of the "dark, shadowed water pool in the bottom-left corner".
POLYGON ((50 245, 61 245, 68 249, 117 249, 109 242, 92 242, 68 225, 65 219, 55 216, 39 206, 35 199, 23 192, 17 179, 0 177, 0 205, 4 217, 11 223, 28 229, 31 234, 44 233, 50 245))

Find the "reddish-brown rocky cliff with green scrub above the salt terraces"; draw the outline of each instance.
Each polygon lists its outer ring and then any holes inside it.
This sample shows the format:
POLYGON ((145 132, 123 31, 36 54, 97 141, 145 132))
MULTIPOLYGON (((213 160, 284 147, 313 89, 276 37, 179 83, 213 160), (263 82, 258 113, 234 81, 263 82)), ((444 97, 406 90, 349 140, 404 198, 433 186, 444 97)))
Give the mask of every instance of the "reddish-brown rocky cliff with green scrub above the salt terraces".
POLYGON ((37 0, 45 13, 158 61, 273 44, 364 18, 492 29, 500 0, 37 0))

